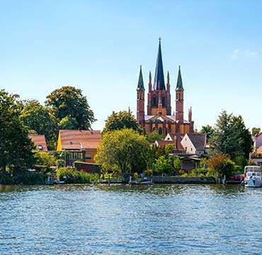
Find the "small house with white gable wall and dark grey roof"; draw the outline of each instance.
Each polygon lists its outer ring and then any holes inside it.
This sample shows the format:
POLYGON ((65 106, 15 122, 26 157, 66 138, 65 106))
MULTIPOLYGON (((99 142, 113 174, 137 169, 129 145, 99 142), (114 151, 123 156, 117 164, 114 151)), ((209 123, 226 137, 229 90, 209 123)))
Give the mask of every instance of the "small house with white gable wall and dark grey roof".
POLYGON ((181 140, 181 145, 186 153, 202 156, 205 153, 205 134, 186 134, 181 140))

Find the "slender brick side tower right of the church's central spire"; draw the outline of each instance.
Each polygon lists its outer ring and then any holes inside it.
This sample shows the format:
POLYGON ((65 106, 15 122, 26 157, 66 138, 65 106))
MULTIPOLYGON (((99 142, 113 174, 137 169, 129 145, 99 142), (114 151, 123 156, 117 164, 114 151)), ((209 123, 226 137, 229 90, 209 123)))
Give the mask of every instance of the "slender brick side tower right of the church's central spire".
POLYGON ((182 77, 181 77, 181 70, 179 66, 178 70, 178 81, 176 84, 176 121, 178 123, 183 124, 183 119, 184 119, 184 113, 183 113, 183 83, 182 83, 182 77))

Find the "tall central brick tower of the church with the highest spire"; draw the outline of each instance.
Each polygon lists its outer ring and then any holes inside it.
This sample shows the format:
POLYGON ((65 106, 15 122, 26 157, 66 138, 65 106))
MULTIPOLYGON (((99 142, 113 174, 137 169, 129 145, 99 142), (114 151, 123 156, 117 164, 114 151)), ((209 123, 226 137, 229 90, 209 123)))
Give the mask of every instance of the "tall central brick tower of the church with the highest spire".
POLYGON ((149 73, 149 91, 147 94, 147 102, 148 102, 147 115, 160 114, 159 106, 161 108, 161 114, 171 115, 169 73, 167 77, 167 84, 165 84, 160 38, 159 38, 159 51, 156 59, 156 70, 154 74, 153 86, 152 86, 151 72, 149 73))

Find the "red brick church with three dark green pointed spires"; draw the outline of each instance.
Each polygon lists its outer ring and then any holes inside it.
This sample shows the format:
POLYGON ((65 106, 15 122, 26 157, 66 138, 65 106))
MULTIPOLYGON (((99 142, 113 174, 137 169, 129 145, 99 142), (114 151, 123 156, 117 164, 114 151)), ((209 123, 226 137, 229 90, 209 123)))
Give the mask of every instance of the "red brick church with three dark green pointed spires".
POLYGON ((161 39, 159 38, 159 51, 156 59, 156 71, 154 83, 149 72, 148 94, 147 94, 147 115, 144 111, 144 81, 142 67, 140 66, 139 79, 137 84, 137 123, 145 132, 157 130, 159 135, 168 133, 193 133, 194 122, 192 120, 192 109, 188 110, 188 120, 184 119, 183 101, 184 89, 181 77, 181 68, 178 69, 176 82, 176 113, 171 111, 171 90, 169 72, 167 72, 166 83, 164 81, 164 69, 161 54, 161 39))

